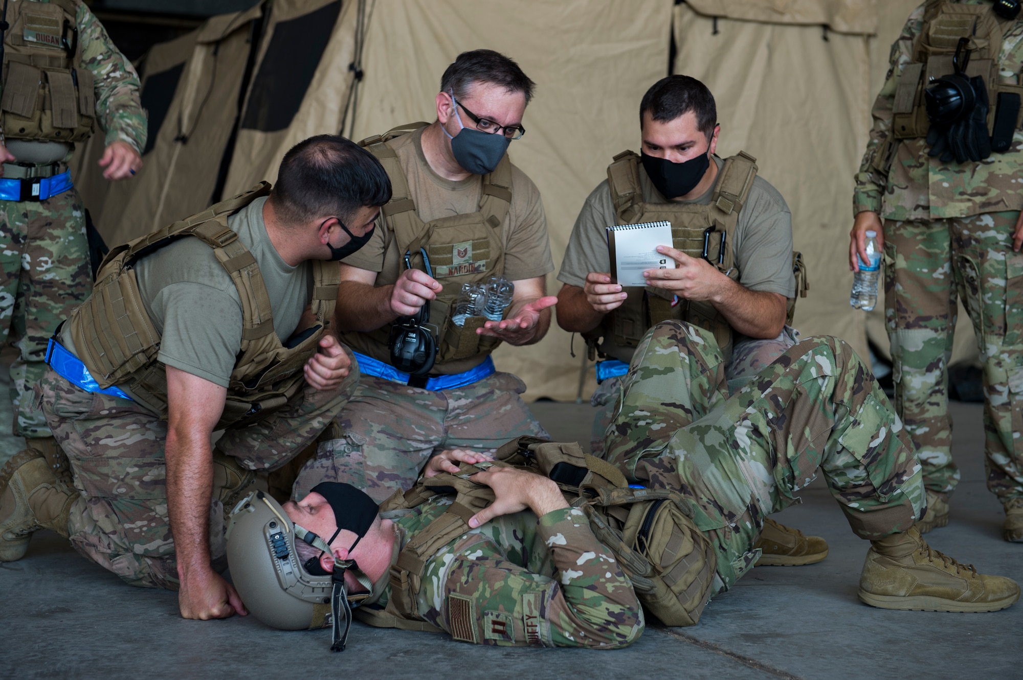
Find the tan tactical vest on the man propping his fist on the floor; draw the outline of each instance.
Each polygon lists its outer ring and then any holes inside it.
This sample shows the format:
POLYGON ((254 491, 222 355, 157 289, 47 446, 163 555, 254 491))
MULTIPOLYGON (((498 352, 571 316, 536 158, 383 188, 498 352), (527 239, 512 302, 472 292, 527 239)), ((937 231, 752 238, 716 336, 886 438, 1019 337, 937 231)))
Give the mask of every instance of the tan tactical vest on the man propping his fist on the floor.
POLYGON ((127 388, 136 400, 167 419, 167 368, 157 359, 161 338, 145 311, 132 265, 176 239, 192 237, 213 248, 241 298, 241 350, 215 429, 262 420, 302 389, 302 369, 316 353, 333 317, 340 269, 337 262, 312 260, 312 312, 318 326, 283 345, 274 333, 270 298, 256 258, 227 226, 228 215, 269 193, 270 185, 261 182, 234 198, 117 246, 103 258, 92 295, 69 322, 78 357, 100 387, 127 388))

